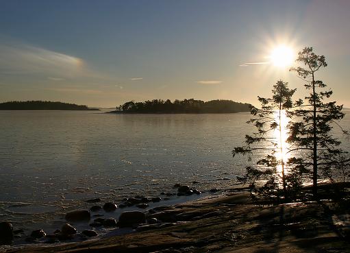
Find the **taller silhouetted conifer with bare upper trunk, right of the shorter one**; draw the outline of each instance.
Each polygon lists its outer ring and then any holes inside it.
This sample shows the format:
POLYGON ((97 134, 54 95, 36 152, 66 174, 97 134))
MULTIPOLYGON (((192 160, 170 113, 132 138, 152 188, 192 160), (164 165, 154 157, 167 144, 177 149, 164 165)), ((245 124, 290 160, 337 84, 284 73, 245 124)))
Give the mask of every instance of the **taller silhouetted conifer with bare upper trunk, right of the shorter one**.
POLYGON ((333 125, 338 124, 337 121, 344 117, 344 113, 336 101, 325 101, 332 96, 332 91, 325 91, 326 85, 316 79, 316 73, 327 67, 325 56, 318 56, 312 47, 305 47, 298 53, 296 62, 301 66, 292 67, 290 71, 297 72, 305 81, 304 86, 310 94, 297 101, 297 108, 292 112, 297 119, 290 122, 287 141, 295 149, 303 150, 303 155, 290 162, 304 169, 312 169, 312 193, 316 198, 318 171, 321 170, 324 176, 332 175, 331 170, 337 166, 336 157, 346 153, 338 148, 340 141, 331 132, 333 125))

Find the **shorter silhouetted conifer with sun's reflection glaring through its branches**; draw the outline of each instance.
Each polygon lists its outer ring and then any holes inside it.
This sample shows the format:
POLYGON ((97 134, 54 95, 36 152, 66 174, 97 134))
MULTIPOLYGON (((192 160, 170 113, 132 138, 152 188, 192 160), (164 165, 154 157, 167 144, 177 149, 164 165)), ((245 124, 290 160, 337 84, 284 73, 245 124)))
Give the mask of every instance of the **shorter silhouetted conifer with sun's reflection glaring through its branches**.
MULTIPOLYGON (((284 150, 284 136, 282 136, 284 130, 286 130, 286 125, 283 125, 286 121, 282 117, 287 115, 288 110, 292 108, 292 95, 295 93, 295 89, 290 90, 288 83, 279 80, 273 86, 272 93, 272 98, 258 97, 261 108, 252 107, 251 114, 253 118, 247 122, 253 123, 257 128, 257 132, 254 132, 253 135, 246 135, 245 143, 247 145, 235 147, 232 153, 233 156, 236 156, 236 154, 250 155, 261 150, 269 152, 266 157, 261 158, 256 163, 258 167, 264 167, 263 169, 249 166, 246 168, 245 176, 238 178, 238 180, 243 183, 249 182, 252 192, 260 193, 267 197, 279 198, 281 181, 284 197, 288 195, 287 186, 289 186, 288 189, 292 188, 291 186, 295 186, 288 185, 289 179, 293 177, 286 177, 284 154, 288 151, 284 150), (273 134, 275 130, 278 131, 277 136, 273 134), (277 167, 281 168, 282 175, 278 173, 277 167), (262 180, 265 181, 264 184, 256 186, 255 183, 262 180)), ((250 156, 249 160, 251 160, 250 156)))

